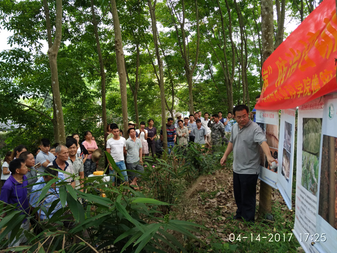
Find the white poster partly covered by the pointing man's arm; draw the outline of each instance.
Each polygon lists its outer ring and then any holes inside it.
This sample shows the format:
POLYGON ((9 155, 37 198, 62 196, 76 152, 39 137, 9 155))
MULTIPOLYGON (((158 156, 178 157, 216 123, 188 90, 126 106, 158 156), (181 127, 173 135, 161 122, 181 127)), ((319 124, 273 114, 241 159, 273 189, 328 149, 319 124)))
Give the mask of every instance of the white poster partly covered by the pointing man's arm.
MULTIPOLYGON (((256 110, 256 123, 266 134, 267 144, 272 157, 279 156, 279 111, 256 110)), ((270 186, 277 188, 278 167, 270 169, 266 155, 260 147, 260 174, 259 179, 270 186)))

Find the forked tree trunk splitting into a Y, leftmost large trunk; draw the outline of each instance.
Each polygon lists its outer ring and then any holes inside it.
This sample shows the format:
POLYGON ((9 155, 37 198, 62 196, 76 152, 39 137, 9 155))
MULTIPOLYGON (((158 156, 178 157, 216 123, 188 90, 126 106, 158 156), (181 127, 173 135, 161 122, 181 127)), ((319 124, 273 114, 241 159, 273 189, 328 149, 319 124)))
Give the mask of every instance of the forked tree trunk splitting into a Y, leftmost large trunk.
POLYGON ((52 90, 53 90, 53 124, 54 129, 57 127, 57 131, 54 132, 55 142, 60 144, 66 143, 66 131, 64 128, 63 109, 60 95, 60 88, 58 84, 58 72, 57 72, 57 54, 61 44, 62 38, 62 0, 56 0, 56 20, 55 20, 55 38, 52 41, 52 26, 49 15, 49 7, 47 0, 43 0, 44 12, 46 15, 46 26, 48 35, 48 58, 52 76, 52 90))

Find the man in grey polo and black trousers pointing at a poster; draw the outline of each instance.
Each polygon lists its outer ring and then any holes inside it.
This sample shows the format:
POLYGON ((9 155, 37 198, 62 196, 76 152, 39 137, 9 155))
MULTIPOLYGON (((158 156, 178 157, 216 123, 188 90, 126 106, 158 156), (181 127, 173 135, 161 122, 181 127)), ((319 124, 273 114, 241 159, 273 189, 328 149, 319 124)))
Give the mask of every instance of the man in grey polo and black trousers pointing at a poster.
POLYGON ((260 149, 266 154, 271 165, 275 159, 270 155, 269 146, 262 128, 249 120, 248 107, 238 105, 233 109, 236 122, 232 126, 230 143, 221 158, 221 165, 233 151, 233 190, 237 205, 234 219, 243 218, 255 221, 256 184, 259 177, 260 149))

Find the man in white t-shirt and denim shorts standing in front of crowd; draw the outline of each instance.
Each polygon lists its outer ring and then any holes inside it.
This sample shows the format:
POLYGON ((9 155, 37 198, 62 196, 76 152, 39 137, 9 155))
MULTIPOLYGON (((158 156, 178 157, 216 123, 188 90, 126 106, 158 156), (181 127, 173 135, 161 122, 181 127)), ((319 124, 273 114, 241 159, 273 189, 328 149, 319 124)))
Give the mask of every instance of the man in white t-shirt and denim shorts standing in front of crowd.
MULTIPOLYGON (((106 152, 110 153, 117 167, 121 170, 121 173, 124 177, 124 181, 128 182, 126 166, 124 163, 124 151, 125 151, 125 146, 126 146, 125 145, 126 140, 124 137, 119 136, 119 128, 117 125, 112 128, 112 134, 113 134, 113 137, 107 140, 106 142, 106 152)), ((115 172, 115 168, 116 167, 114 167, 109 162, 110 174, 115 175, 117 173, 117 171, 115 172)), ((115 176, 113 176, 112 182, 113 184, 115 183, 115 176)))

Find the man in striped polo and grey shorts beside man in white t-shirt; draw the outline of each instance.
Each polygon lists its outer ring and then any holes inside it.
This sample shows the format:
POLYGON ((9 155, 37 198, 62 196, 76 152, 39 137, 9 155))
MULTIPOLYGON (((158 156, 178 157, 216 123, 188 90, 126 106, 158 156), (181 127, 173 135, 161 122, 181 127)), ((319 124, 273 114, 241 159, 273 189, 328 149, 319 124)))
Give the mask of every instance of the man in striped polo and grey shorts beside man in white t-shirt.
POLYGON ((140 164, 142 163, 142 142, 136 137, 136 130, 134 128, 129 128, 127 132, 130 137, 125 142, 126 168, 127 170, 134 171, 129 172, 129 179, 132 180, 130 185, 134 185, 134 189, 138 190, 137 180, 142 177, 142 173, 144 172, 144 168, 140 164), (141 174, 138 172, 141 172, 141 174))

